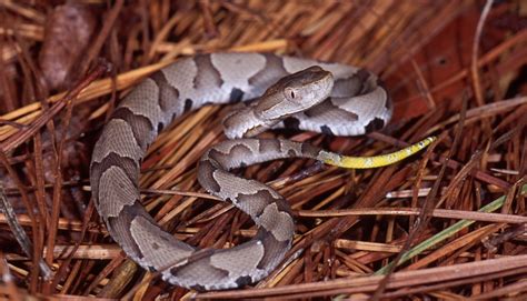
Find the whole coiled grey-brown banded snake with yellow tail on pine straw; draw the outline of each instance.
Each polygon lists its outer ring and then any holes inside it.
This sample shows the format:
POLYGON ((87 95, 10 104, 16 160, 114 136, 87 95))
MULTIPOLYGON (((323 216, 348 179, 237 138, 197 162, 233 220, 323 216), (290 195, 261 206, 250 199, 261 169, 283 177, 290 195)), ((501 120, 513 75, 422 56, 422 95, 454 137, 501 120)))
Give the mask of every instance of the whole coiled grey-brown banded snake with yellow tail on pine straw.
POLYGON ((180 59, 140 82, 116 108, 91 159, 92 195, 110 235, 125 252, 162 279, 197 290, 239 288, 265 278, 291 248, 294 220, 284 198, 230 169, 302 157, 347 168, 374 168, 425 148, 426 139, 401 151, 352 158, 288 140, 236 139, 210 148, 198 180, 211 194, 232 202, 258 225, 257 235, 225 250, 197 250, 161 230, 140 203, 141 160, 158 132, 185 112, 207 103, 261 97, 225 120, 226 136, 255 136, 292 127, 336 136, 382 128, 391 103, 377 77, 346 64, 269 53, 210 53, 180 59), (267 89, 267 91, 266 91, 267 89))

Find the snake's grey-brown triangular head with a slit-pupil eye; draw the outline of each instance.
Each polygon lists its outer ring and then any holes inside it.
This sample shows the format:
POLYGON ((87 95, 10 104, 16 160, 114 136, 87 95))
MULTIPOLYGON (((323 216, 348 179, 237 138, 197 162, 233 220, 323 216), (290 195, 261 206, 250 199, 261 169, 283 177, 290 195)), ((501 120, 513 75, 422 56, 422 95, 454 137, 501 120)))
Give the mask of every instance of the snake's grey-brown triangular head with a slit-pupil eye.
POLYGON ((280 79, 260 97, 255 114, 266 122, 305 111, 329 97, 334 88, 331 72, 312 66, 280 79))

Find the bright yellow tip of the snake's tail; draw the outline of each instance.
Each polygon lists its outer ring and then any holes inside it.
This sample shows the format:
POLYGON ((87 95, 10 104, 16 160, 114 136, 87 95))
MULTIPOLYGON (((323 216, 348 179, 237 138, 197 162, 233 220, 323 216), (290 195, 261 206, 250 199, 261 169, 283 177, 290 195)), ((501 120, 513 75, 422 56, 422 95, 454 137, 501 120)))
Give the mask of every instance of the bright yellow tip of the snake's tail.
POLYGON ((321 151, 319 154, 319 158, 326 164, 340 167, 340 168, 348 168, 348 169, 380 168, 380 167, 390 165, 390 164, 405 160, 406 158, 428 147, 436 139, 437 139, 436 137, 428 137, 415 144, 411 144, 396 152, 374 155, 374 157, 348 157, 348 155, 341 155, 334 152, 321 151))

